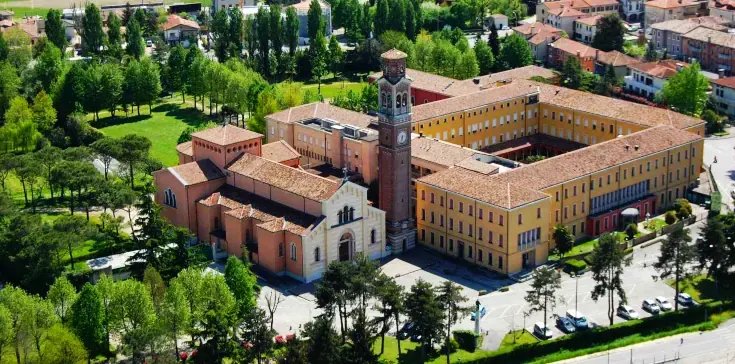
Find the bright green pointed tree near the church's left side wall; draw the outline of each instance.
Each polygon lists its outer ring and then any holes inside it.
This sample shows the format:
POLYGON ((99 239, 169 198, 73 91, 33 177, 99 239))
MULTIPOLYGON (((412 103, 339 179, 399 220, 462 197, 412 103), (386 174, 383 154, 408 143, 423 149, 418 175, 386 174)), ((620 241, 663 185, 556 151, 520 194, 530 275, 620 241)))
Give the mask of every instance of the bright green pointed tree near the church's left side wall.
MULTIPOLYGON (((258 283, 255 274, 250 271, 250 267, 240 260, 240 258, 232 255, 227 259, 225 265, 225 282, 230 288, 232 295, 237 302, 238 315, 244 318, 246 314, 251 312, 257 306, 258 283)), ((271 324, 271 329, 273 326, 271 324)))

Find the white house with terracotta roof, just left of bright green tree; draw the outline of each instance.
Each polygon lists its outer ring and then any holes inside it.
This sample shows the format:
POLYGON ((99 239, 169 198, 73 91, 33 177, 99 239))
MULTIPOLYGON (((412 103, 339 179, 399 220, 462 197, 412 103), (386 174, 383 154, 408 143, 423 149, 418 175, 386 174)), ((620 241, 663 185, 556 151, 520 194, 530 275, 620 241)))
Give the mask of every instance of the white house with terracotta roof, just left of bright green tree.
POLYGON ((632 65, 631 74, 625 77, 625 90, 652 100, 663 89, 666 80, 688 66, 673 59, 632 65))

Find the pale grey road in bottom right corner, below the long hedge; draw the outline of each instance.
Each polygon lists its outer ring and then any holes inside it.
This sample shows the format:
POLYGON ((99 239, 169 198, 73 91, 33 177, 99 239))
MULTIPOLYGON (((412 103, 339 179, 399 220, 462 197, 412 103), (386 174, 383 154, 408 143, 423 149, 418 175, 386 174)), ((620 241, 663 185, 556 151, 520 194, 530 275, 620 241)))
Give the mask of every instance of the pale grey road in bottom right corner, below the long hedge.
POLYGON ((609 353, 602 352, 559 363, 660 363, 676 357, 679 358, 677 364, 735 363, 733 343, 735 343, 735 320, 730 320, 713 331, 671 336, 611 350, 609 353))

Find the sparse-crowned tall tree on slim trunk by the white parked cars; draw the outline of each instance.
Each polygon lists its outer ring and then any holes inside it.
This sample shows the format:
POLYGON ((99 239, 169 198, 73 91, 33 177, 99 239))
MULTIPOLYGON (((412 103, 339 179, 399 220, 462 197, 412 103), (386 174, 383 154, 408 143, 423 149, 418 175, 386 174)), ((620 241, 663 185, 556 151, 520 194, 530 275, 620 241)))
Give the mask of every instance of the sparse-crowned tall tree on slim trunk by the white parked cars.
MULTIPOLYGON (((672 231, 661 243, 661 255, 653 264, 656 272, 659 273, 658 278, 667 279, 674 276, 675 297, 679 297, 679 282, 690 278, 694 273, 692 263, 697 259, 697 248, 689 245, 691 241, 689 231, 683 227, 672 231)), ((674 310, 679 310, 678 299, 674 300, 674 310)))

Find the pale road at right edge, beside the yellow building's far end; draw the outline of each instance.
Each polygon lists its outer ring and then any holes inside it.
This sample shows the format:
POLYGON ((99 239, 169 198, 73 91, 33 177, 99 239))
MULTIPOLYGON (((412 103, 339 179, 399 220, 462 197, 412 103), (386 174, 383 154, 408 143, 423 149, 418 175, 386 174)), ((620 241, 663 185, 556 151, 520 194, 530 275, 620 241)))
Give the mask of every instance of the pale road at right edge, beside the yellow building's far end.
MULTIPOLYGON (((731 129, 731 132, 735 130, 731 129)), ((722 192, 722 203, 733 211, 733 199, 730 191, 735 181, 735 137, 707 139, 704 142, 704 164, 711 166, 712 174, 722 192), (717 163, 713 163, 715 156, 717 163)))

